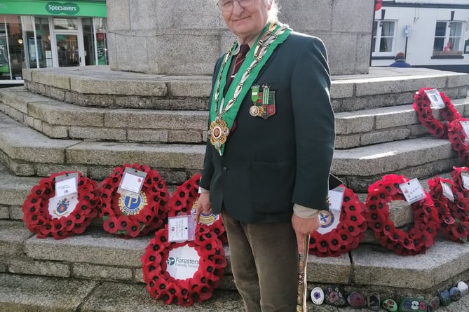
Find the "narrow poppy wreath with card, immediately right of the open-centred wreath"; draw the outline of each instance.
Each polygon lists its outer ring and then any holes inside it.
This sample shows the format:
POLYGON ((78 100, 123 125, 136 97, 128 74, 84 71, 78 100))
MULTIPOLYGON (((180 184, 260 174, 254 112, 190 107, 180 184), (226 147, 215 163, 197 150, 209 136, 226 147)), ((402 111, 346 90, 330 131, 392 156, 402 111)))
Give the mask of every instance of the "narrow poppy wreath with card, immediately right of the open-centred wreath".
POLYGON ((436 176, 428 180, 429 194, 435 204, 440 219, 440 231, 446 238, 458 243, 466 243, 469 236, 469 215, 467 191, 459 191, 451 179, 436 176), (443 195, 443 183, 451 186, 455 201, 443 195), (456 194, 456 195, 455 195, 456 194), (466 195, 467 196, 467 195, 466 195))

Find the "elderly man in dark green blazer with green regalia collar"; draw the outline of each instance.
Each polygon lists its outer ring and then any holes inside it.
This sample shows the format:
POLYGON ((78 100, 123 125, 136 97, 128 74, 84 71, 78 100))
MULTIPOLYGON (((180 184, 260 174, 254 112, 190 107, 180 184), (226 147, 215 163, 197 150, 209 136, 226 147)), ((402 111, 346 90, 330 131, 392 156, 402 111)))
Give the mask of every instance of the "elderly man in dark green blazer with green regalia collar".
POLYGON ((215 65, 200 213, 222 213, 247 312, 297 308, 298 253, 328 210, 334 151, 327 53, 276 0, 218 0, 236 36, 215 65))

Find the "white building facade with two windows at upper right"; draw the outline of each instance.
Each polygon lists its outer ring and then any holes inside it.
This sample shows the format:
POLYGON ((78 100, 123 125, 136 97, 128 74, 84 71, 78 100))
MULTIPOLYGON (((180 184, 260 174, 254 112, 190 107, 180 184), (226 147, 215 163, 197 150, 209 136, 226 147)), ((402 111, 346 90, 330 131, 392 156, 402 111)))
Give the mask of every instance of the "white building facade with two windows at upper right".
POLYGON ((383 0, 371 65, 388 66, 399 52, 412 67, 469 73, 469 0, 383 0))

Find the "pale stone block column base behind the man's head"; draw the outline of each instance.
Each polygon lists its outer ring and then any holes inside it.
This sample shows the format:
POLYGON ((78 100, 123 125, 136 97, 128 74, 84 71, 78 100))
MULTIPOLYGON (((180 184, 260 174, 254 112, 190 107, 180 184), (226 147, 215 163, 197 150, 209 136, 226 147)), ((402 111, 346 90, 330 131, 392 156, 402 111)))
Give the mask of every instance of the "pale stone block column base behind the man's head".
MULTIPOLYGON (((332 74, 368 72, 374 0, 280 6, 281 22, 325 42, 332 74)), ((214 0, 112 0, 107 20, 109 64, 117 71, 210 75, 234 39, 214 0)))

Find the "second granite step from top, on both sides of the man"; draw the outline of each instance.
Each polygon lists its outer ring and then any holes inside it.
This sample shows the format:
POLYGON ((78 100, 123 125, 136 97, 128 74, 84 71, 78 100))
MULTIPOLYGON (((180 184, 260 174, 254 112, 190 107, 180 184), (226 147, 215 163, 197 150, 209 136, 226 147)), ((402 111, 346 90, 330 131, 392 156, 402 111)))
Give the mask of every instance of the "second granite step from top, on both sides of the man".
MULTIPOLYGON (((469 97, 451 102, 469 115, 469 97)), ((81 107, 22 87, 0 90, 0 112, 53 139, 201 144, 207 137, 208 111, 81 107)), ((337 149, 351 149, 429 134, 412 104, 402 104, 339 112, 336 135, 337 149)))

